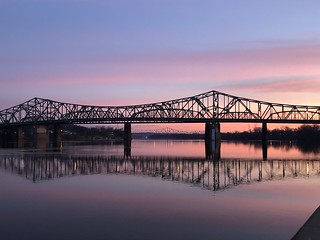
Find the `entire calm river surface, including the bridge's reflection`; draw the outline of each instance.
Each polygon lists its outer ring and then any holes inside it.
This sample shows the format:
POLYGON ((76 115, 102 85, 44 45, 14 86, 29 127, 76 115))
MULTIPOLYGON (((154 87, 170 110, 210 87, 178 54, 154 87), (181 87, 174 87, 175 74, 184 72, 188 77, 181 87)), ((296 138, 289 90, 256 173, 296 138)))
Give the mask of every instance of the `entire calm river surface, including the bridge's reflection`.
POLYGON ((0 150, 0 239, 290 239, 320 203, 317 148, 202 141, 0 150))

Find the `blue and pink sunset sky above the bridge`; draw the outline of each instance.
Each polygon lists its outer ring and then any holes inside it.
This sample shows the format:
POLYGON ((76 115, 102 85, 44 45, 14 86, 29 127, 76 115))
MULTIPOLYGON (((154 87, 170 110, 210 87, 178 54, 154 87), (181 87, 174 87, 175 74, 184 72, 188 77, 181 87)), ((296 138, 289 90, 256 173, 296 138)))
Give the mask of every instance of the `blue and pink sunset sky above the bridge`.
POLYGON ((320 105, 319 9, 318 0, 0 0, 0 109, 33 97, 114 106, 209 90, 320 105))

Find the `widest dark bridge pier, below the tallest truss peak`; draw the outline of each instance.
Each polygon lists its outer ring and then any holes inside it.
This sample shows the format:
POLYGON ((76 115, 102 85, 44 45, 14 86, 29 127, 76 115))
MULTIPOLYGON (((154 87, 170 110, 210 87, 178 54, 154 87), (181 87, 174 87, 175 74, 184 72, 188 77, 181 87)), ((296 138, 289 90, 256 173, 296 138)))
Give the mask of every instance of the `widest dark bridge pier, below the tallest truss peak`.
POLYGON ((206 123, 205 125, 205 148, 207 159, 220 159, 221 134, 220 123, 206 123))

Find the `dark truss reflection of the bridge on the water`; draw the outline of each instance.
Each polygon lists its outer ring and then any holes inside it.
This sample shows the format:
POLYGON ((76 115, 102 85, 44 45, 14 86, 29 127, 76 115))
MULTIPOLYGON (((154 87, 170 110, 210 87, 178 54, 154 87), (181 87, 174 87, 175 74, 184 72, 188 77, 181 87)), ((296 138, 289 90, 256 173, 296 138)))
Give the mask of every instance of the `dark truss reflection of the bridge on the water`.
POLYGON ((240 184, 319 176, 320 160, 238 160, 20 154, 0 156, 0 168, 40 182, 91 174, 157 177, 218 191, 240 184))

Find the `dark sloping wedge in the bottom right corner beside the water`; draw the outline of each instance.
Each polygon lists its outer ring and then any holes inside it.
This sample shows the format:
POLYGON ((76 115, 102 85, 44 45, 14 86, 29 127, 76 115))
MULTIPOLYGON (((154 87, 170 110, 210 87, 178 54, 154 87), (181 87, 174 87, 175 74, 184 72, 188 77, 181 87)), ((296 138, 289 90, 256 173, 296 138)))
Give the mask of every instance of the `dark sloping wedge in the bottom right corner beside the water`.
POLYGON ((318 239, 320 239, 320 206, 292 238, 292 240, 318 239))

